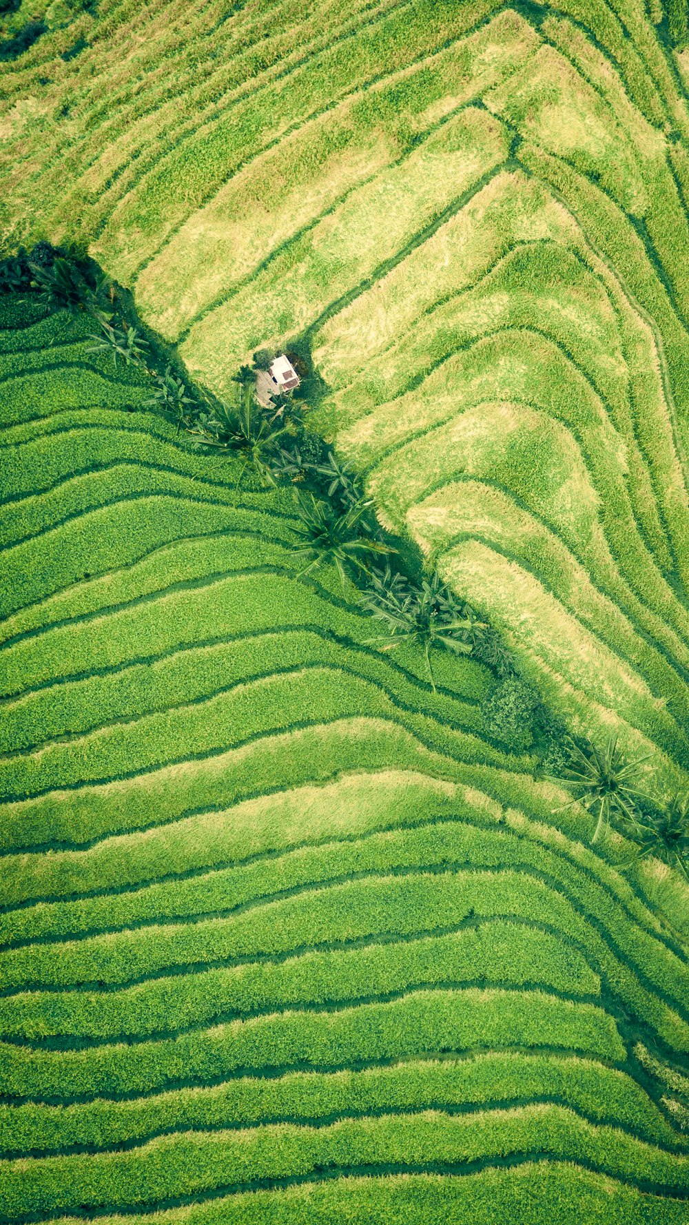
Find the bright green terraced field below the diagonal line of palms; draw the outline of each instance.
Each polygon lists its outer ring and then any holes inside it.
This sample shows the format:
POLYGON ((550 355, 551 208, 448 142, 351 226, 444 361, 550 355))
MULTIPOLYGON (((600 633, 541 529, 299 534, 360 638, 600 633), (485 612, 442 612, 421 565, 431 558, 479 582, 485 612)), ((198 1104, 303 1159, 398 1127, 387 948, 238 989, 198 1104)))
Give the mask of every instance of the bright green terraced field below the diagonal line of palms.
POLYGON ((2 1216, 682 1221, 685 953, 490 674, 374 650, 286 494, 5 315, 2 1216))

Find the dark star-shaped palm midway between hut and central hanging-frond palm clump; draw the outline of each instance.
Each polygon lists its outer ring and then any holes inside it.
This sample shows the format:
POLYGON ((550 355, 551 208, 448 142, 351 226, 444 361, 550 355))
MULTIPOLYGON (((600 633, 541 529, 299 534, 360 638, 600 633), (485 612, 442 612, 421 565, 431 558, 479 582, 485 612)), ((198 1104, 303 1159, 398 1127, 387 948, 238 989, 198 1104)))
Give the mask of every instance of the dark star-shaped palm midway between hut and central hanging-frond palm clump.
POLYGON ((381 540, 374 539, 370 519, 370 501, 354 502, 347 511, 338 511, 313 494, 297 494, 299 523, 295 551, 308 559, 302 573, 308 575, 324 562, 331 562, 345 589, 346 567, 352 565, 359 572, 367 570, 373 554, 390 552, 381 540))

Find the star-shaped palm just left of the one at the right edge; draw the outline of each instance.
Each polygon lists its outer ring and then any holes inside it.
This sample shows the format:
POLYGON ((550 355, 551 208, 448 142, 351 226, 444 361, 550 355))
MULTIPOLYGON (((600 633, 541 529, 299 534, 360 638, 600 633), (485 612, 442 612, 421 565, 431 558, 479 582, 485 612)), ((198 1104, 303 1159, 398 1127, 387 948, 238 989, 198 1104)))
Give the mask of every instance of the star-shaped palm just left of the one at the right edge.
POLYGON ((574 740, 569 742, 569 747, 571 766, 565 767, 566 774, 550 777, 550 780, 566 786, 574 793, 574 799, 553 809, 553 812, 563 812, 574 804, 581 804, 596 820, 591 839, 595 843, 607 833, 615 817, 634 829, 639 823, 636 800, 647 799, 646 793, 638 786, 639 767, 651 755, 626 761, 618 748, 617 735, 609 737, 604 748, 588 745, 585 751, 574 740))

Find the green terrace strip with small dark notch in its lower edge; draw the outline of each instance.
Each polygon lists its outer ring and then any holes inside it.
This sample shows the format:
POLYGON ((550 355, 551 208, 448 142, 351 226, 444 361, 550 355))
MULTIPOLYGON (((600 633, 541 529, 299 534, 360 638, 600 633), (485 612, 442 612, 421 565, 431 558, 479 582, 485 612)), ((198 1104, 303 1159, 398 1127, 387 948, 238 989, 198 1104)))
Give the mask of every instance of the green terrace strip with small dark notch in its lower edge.
MULTIPOLYGON (((172 926, 140 927, 105 936, 64 942, 60 957, 50 944, 2 954, 4 990, 23 982, 71 986, 80 982, 126 984, 153 978, 172 967, 200 967, 217 959, 289 956, 295 948, 340 946, 381 936, 414 936, 457 927, 477 916, 515 915, 557 926, 587 944, 588 929, 571 904, 543 882, 505 869, 497 872, 423 872, 385 876, 325 887, 305 887, 283 899, 261 904, 226 919, 204 919, 172 926), (5 967, 10 964, 7 973, 5 967), (15 974, 12 974, 15 970, 15 974)), ((174 980, 170 980, 174 981, 174 980)), ((162 989, 169 986, 163 984, 162 989)), ((139 997, 157 987, 142 986, 139 997)), ((184 991, 184 986, 180 986, 184 991)), ((37 1000, 38 1005, 39 1001, 37 1000)), ((23 1007, 31 1008, 27 996, 23 1007)), ((4 1011, 22 1007, 9 1002, 4 1011)), ((59 1000, 55 1007, 60 1008, 59 1000)), ((69 1005, 65 1005, 69 1007, 69 1005)), ((105 1005, 105 1007, 108 1007, 105 1005)), ((175 1028, 175 1027, 173 1027, 175 1028)))

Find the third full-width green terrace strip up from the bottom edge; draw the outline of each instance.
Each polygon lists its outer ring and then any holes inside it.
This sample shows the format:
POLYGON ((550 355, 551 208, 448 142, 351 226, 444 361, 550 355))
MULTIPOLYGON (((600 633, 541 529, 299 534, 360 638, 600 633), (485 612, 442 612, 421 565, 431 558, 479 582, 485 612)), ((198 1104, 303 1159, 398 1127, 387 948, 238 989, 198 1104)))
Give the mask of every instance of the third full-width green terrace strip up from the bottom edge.
POLYGON ((411 1060, 359 1072, 291 1072, 237 1078, 129 1101, 96 1099, 72 1106, 0 1106, 0 1150, 107 1148, 161 1132, 251 1126, 271 1120, 327 1120, 434 1105, 474 1107, 557 1100, 592 1122, 614 1122, 666 1148, 687 1140, 624 1072, 575 1056, 500 1052, 463 1060, 411 1060))

